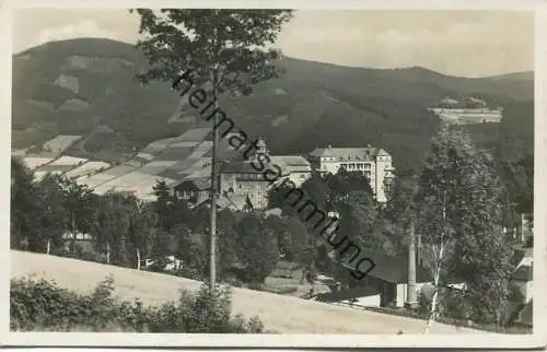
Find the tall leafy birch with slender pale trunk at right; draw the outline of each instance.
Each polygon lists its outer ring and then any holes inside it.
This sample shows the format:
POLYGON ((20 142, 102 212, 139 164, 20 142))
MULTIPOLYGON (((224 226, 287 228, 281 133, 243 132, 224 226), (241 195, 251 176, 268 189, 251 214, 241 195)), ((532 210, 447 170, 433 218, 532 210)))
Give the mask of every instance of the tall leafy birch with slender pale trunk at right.
POLYGON ((444 126, 410 196, 408 220, 433 278, 426 332, 441 313, 507 322, 513 253, 503 232, 507 190, 492 157, 461 129, 444 126))

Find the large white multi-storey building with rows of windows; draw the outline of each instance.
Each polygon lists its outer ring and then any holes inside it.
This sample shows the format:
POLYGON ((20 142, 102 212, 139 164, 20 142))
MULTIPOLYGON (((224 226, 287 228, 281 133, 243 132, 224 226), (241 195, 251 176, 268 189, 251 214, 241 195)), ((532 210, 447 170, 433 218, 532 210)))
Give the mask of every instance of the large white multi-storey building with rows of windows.
POLYGON ((312 166, 322 175, 336 174, 344 167, 348 172, 362 172, 379 202, 387 201, 385 186, 394 177, 392 155, 380 148, 318 148, 310 153, 312 166))

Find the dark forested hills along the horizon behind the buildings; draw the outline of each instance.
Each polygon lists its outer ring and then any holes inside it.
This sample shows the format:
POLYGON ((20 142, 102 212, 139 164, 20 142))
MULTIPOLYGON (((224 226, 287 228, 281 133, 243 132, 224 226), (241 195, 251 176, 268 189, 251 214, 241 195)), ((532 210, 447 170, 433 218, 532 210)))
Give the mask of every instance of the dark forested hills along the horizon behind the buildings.
MULTIPOLYGON (((523 138, 529 127, 533 132, 532 72, 464 79, 423 68, 374 70, 292 58, 280 64, 282 78, 257 85, 251 96, 222 102, 237 126, 265 136, 274 153, 370 143, 388 150, 396 167, 409 168, 420 162, 439 124, 426 107, 445 96, 513 106, 510 124, 526 132, 509 139, 523 138)), ((13 146, 84 134, 88 151, 117 157, 184 132, 193 126, 193 112, 173 119, 177 95, 168 82, 137 83, 133 75, 144 68, 131 45, 108 39, 56 42, 15 55, 13 146)), ((499 128, 484 127, 481 142, 499 144, 499 128)))

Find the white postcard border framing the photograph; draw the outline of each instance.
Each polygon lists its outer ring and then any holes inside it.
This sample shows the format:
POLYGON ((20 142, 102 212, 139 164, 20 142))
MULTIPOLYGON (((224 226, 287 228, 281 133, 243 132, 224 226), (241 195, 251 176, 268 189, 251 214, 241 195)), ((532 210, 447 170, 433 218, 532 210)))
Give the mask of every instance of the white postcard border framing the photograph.
POLYGON ((9 250, 9 218, 10 218, 10 140, 11 140, 11 50, 2 55, 1 74, 1 107, 4 128, 1 129, 1 142, 4 145, 0 155, 5 165, 0 175, 3 183, 0 187, 0 199, 3 211, 0 212, 3 235, 0 236, 4 255, 0 256, 2 280, 0 312, 3 345, 51 345, 51 347, 255 347, 255 348, 490 348, 490 349, 521 349, 545 345, 543 330, 547 326, 546 306, 546 234, 547 234, 547 195, 545 151, 547 149, 546 124, 547 116, 544 82, 547 75, 547 12, 543 1, 175 1, 175 0, 49 0, 49 1, 10 1, 0 9, 1 43, 11 48, 11 11, 14 7, 32 8, 294 8, 294 9, 427 9, 427 10, 519 10, 536 11, 536 45, 535 45, 535 249, 534 249, 534 335, 175 335, 175 333, 80 333, 80 332, 9 332, 9 281, 10 281, 10 250, 9 250))

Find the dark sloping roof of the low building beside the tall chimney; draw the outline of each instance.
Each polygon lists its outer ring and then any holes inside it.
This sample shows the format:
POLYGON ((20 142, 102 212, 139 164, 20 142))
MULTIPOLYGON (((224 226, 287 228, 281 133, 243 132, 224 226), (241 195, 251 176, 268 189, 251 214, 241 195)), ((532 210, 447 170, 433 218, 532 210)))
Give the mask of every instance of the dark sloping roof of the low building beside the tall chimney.
MULTIPOLYGON (((369 277, 377 278, 392 283, 407 283, 408 282, 408 256, 400 255, 397 257, 388 256, 379 250, 371 250, 360 248, 361 254, 359 256, 360 259, 369 258, 375 265, 375 267, 369 272, 369 277)), ((347 256, 351 256, 352 254, 348 253, 347 256)), ((342 263, 348 269, 356 270, 354 265, 358 263, 359 260, 353 260, 351 263, 342 263)), ((363 265, 365 266, 365 265, 363 265)), ((366 265, 366 268, 369 266, 366 265)), ((363 267, 364 268, 364 267, 363 267)), ((431 282, 432 277, 430 272, 416 263, 416 282, 431 282)))

